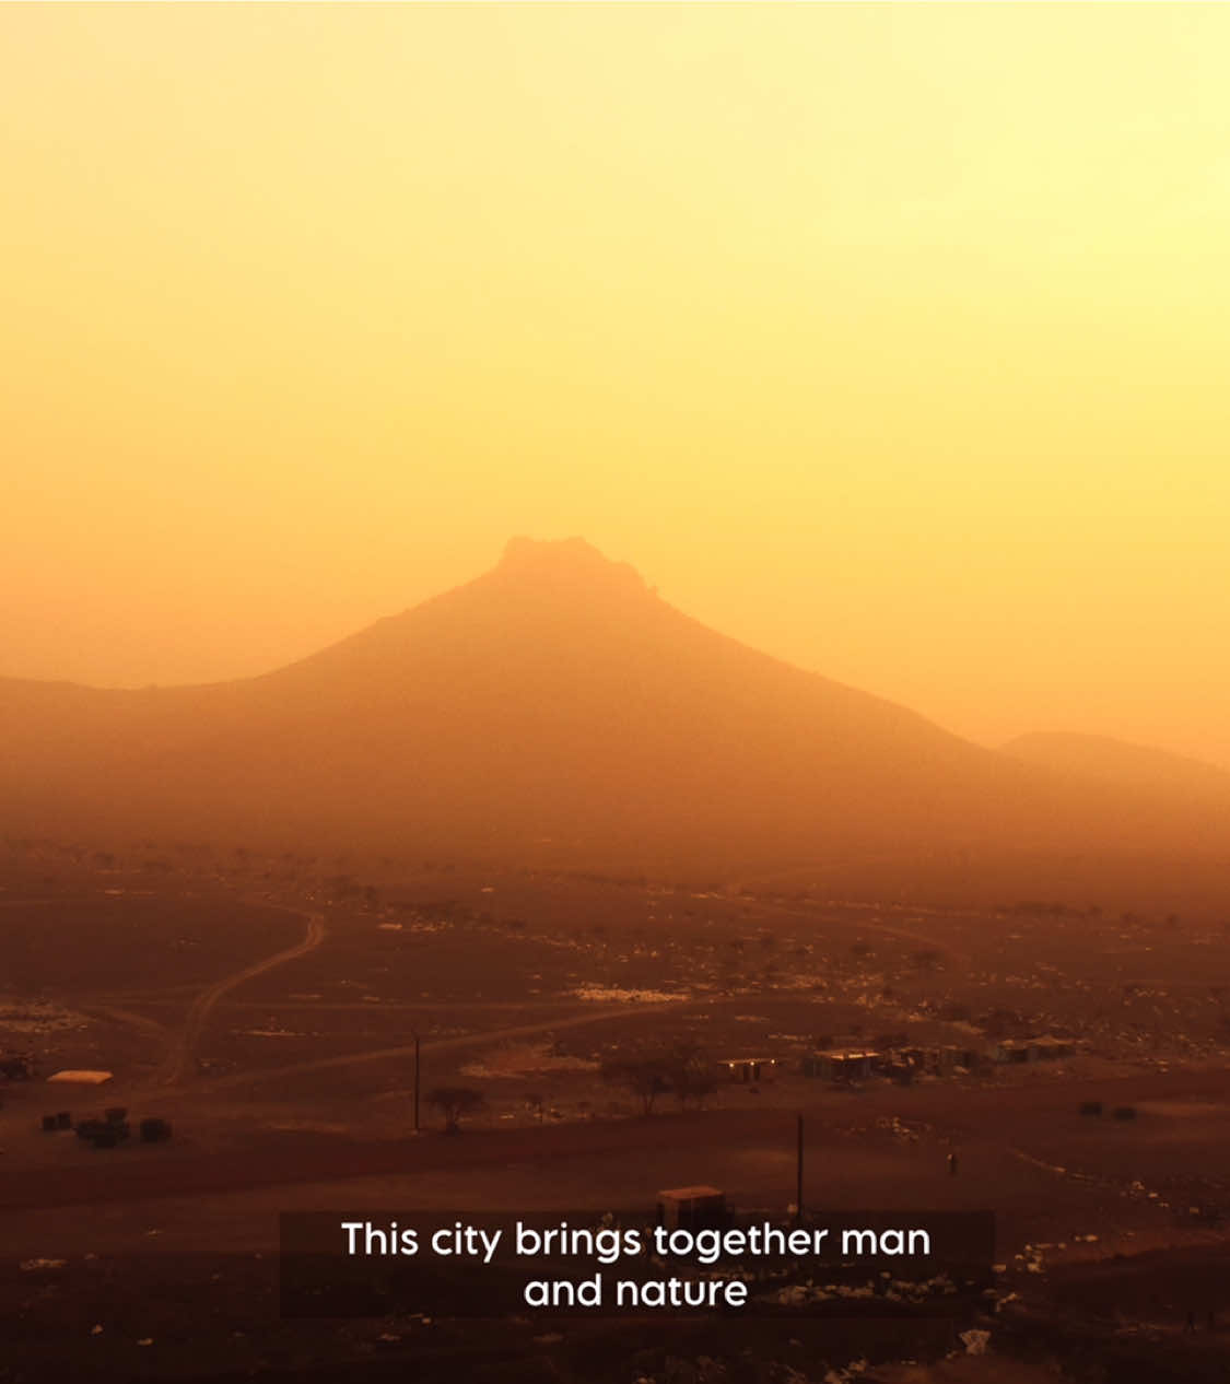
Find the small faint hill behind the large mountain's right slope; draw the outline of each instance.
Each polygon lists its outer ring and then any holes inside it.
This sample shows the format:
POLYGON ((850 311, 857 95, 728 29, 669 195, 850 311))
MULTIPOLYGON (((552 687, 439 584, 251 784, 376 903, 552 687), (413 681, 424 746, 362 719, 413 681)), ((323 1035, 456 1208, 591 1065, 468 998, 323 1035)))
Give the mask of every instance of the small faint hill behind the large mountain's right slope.
POLYGON ((1021 735, 1004 745, 1003 753, 1027 764, 1121 787, 1230 803, 1230 772, 1226 770, 1105 735, 1021 735))

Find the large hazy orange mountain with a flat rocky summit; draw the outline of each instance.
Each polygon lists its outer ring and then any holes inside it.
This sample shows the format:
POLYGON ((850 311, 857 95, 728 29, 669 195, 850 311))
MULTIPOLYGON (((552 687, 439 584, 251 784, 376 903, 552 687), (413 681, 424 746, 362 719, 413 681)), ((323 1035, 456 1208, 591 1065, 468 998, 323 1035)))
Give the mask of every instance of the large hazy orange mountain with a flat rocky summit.
POLYGON ((1219 851, 1205 800, 1057 772, 706 628, 581 540, 263 677, 0 680, 0 825, 743 879, 1219 851))

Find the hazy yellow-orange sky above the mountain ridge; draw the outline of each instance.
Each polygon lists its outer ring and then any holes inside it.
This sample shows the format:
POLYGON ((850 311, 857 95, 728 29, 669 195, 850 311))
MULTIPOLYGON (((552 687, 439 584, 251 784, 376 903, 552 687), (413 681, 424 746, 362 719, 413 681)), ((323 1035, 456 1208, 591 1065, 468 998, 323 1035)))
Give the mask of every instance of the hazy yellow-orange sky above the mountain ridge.
POLYGON ((0 10, 0 673, 582 534, 986 742, 1230 765, 1230 8, 0 10))

